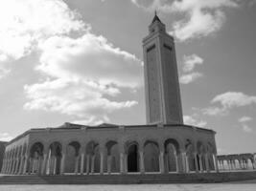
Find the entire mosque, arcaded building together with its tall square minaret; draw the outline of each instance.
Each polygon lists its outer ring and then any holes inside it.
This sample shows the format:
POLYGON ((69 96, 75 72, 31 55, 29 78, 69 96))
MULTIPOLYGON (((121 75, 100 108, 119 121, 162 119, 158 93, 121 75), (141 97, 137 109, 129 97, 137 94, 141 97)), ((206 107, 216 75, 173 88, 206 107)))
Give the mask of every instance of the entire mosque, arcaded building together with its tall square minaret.
POLYGON ((183 124, 175 39, 156 14, 143 39, 143 53, 147 124, 64 123, 28 130, 7 144, 1 173, 219 172, 216 132, 183 124))

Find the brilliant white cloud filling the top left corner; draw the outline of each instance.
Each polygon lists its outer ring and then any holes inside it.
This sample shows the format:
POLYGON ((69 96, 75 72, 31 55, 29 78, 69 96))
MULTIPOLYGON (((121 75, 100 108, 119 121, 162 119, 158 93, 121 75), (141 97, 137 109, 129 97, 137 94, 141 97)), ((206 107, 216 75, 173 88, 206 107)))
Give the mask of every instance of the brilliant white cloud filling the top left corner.
POLYGON ((32 53, 49 36, 85 30, 79 17, 61 0, 1 2, 0 62, 32 53))

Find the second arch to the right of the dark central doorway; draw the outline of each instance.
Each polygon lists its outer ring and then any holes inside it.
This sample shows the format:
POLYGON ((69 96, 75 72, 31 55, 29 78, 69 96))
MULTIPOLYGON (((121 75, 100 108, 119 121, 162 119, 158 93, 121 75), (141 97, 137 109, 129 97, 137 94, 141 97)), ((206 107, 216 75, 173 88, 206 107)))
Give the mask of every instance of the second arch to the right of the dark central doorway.
POLYGON ((165 169, 167 172, 177 172, 180 163, 178 156, 180 153, 180 144, 175 138, 168 138, 164 141, 165 169))

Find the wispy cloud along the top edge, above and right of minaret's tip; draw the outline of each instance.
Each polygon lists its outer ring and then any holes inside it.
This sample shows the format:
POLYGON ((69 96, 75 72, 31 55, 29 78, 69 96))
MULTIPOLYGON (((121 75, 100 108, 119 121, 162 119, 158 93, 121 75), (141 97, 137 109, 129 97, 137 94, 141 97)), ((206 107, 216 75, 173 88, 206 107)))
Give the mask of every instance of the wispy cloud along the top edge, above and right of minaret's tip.
POLYGON ((182 13, 185 15, 174 24, 175 36, 181 40, 207 36, 221 29, 225 20, 222 8, 236 8, 235 0, 131 0, 147 11, 182 13), (147 4, 146 4, 147 2, 147 4), (185 14, 184 14, 185 13, 185 14))

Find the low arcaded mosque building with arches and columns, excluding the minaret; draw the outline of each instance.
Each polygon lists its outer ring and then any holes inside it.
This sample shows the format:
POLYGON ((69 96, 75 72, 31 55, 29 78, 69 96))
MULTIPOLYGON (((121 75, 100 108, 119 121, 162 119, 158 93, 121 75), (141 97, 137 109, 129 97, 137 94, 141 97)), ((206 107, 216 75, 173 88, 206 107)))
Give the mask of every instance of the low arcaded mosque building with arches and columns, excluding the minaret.
POLYGON ((184 173, 216 155, 215 132, 185 125, 34 129, 9 143, 4 173, 184 173))

